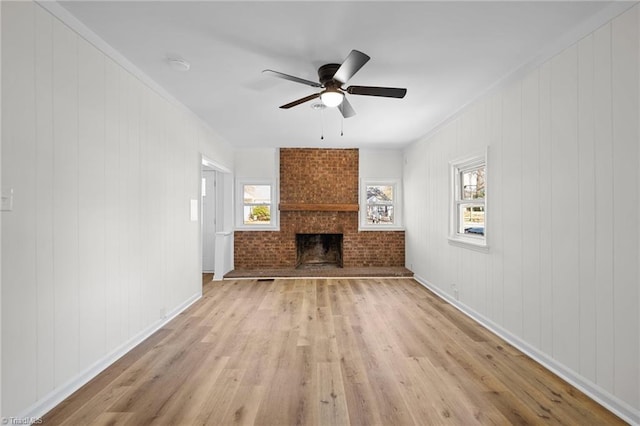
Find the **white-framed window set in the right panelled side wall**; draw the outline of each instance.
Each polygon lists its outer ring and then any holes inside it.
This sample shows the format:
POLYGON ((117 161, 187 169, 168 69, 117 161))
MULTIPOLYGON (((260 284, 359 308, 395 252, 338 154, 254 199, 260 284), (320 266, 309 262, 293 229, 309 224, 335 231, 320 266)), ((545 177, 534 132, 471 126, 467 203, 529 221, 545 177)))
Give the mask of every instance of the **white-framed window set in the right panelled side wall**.
POLYGON ((451 232, 453 243, 486 248, 486 154, 451 162, 451 232))

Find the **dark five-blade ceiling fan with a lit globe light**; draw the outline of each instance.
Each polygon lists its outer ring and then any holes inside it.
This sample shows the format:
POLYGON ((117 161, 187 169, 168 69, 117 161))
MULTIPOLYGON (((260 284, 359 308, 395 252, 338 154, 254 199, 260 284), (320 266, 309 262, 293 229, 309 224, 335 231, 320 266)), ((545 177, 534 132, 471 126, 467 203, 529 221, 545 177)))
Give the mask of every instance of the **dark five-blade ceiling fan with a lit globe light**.
POLYGON ((282 105, 280 108, 289 109, 312 99, 320 98, 325 106, 337 107, 344 118, 349 118, 353 117, 356 112, 347 100, 345 93, 349 93, 350 95, 382 96, 385 98, 404 98, 404 95, 407 94, 407 89, 397 87, 349 86, 343 89, 342 85, 353 77, 369 59, 371 58, 368 55, 358 50, 352 50, 342 64, 326 64, 318 68, 319 83, 274 70, 264 70, 262 72, 285 80, 323 89, 319 93, 305 96, 304 98, 282 105))

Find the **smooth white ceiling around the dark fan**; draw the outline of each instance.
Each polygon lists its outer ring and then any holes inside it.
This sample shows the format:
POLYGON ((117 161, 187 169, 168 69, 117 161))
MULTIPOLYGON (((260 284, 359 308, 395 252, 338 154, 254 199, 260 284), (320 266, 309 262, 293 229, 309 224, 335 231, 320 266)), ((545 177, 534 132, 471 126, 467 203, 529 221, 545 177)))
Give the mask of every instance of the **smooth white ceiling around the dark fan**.
POLYGON ((616 3, 59 4, 234 146, 400 148, 619 13, 616 3), (317 81, 319 66, 341 63, 351 49, 371 60, 347 85, 405 87, 406 97, 347 95, 357 115, 344 122, 336 109, 312 109, 314 101, 278 108, 317 90, 263 69, 317 81), (191 70, 171 68, 172 55, 191 70))

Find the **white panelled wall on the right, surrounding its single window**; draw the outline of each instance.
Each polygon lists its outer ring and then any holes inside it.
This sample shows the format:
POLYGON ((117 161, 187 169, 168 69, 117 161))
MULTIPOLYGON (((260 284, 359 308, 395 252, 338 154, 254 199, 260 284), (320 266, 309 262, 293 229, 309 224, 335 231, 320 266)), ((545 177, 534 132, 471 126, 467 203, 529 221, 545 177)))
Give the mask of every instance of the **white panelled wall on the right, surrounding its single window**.
POLYGON ((404 172, 416 276, 635 422, 639 20, 636 6, 470 106, 404 172), (447 242, 448 162, 486 146, 488 254, 447 242))

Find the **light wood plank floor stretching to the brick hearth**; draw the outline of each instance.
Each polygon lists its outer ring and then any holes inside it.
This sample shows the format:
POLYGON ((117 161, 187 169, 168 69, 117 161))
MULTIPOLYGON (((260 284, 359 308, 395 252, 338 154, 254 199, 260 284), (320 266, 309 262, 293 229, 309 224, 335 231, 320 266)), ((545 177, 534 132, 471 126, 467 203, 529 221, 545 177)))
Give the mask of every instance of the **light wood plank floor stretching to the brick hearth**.
POLYGON ((412 279, 208 282, 44 424, 624 424, 412 279))

